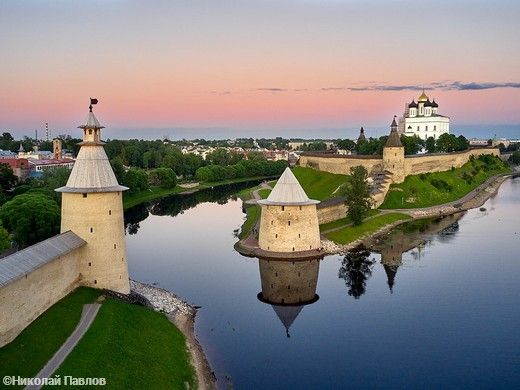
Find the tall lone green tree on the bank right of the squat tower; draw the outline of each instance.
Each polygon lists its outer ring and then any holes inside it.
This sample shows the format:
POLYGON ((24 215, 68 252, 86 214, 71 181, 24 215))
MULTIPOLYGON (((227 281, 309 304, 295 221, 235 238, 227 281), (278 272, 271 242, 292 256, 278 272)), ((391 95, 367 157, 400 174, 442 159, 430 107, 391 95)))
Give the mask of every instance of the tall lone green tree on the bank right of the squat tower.
POLYGON ((354 225, 360 225, 372 206, 368 171, 362 165, 350 168, 350 180, 346 183, 344 195, 347 198, 347 214, 354 225))

